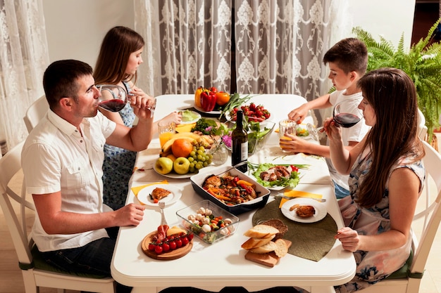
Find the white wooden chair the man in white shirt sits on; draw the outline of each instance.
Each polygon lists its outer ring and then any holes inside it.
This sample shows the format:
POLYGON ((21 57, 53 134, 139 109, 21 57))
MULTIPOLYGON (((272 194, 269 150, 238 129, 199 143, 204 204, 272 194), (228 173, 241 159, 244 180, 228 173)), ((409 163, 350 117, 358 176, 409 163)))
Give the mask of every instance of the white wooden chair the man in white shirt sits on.
POLYGON ((37 293, 39 292, 39 287, 50 287, 58 288, 58 292, 64 292, 63 289, 70 289, 87 292, 114 293, 114 282, 112 278, 60 271, 49 266, 49 264, 39 256, 32 237, 27 233, 25 218, 25 209, 35 211, 35 206, 32 202, 26 200, 26 192, 25 188, 23 188, 24 184, 20 195, 8 187, 11 178, 21 169, 21 150, 23 144, 22 142, 16 145, 0 159, 0 206, 11 233, 15 252, 18 255, 18 265, 23 274, 25 292, 37 293), (14 205, 11 203, 11 200, 15 202, 14 205), (20 206, 21 223, 20 216, 18 216, 18 213, 16 213, 14 209, 17 203, 20 206))

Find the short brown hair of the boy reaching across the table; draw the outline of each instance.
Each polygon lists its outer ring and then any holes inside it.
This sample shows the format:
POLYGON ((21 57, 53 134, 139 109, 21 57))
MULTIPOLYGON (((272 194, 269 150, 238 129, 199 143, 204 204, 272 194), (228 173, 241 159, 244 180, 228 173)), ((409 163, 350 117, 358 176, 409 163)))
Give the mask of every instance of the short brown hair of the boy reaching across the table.
POLYGON ((342 39, 332 46, 323 56, 323 63, 337 63, 344 73, 358 72, 361 76, 368 67, 368 48, 356 38, 342 39))

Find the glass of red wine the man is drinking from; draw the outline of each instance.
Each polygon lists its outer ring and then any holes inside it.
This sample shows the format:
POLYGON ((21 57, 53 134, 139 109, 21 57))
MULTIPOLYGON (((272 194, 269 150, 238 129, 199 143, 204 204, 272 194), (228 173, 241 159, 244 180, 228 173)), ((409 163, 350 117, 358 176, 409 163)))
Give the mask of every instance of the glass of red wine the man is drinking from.
MULTIPOLYGON (((116 84, 99 84, 97 89, 101 93, 99 97, 99 108, 110 112, 119 112, 123 110, 126 103, 130 103, 128 96, 134 96, 128 94, 122 86, 116 84)), ((147 107, 150 110, 150 117, 153 117, 154 110, 156 108, 156 98, 154 105, 147 107)))

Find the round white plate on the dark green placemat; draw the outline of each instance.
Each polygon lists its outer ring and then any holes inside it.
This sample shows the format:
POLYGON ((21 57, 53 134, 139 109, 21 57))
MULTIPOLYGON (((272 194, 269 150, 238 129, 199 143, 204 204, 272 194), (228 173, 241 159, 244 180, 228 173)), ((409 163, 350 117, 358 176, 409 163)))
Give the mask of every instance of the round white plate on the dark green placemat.
POLYGON ((282 214, 288 219, 301 223, 314 223, 320 221, 326 216, 326 214, 328 214, 328 211, 326 211, 326 207, 324 204, 306 197, 297 197, 293 198, 292 200, 288 200, 282 205, 281 210, 282 214), (295 209, 290 211, 290 207, 292 207, 294 204, 311 205, 314 207, 314 209, 316 209, 316 214, 309 218, 299 217, 297 216, 295 209))

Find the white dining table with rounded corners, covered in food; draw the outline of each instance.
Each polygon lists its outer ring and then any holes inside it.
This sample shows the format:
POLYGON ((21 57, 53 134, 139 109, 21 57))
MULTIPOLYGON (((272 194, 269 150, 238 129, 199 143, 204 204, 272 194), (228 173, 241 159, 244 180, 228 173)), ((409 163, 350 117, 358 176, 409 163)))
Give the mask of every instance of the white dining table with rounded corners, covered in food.
MULTIPOLYGON (((158 96, 155 117, 159 119, 173 110, 185 110, 194 105, 193 95, 163 95, 158 96)), ((290 94, 262 94, 249 100, 258 105, 264 105, 271 112, 270 120, 278 123, 285 119, 290 110, 306 103, 301 96, 290 94)), ((216 119, 211 118, 211 119, 216 119)), ((312 117, 306 117, 305 123, 313 122, 312 117)), ((277 127, 277 126, 276 126, 277 127)), ((164 209, 169 226, 178 226, 180 221, 176 211, 203 200, 193 190, 188 178, 168 178, 154 171, 154 162, 159 157, 161 148, 159 139, 155 137, 147 150, 139 152, 130 187, 156 183, 167 180, 182 192, 180 199, 164 209), (142 171, 139 171, 142 170, 142 171)), ((278 134, 271 134, 268 142, 254 155, 249 162, 268 162, 279 164, 309 164, 309 169, 302 169, 302 176, 296 190, 323 195, 328 214, 333 217, 337 228, 344 226, 333 185, 331 184, 328 167, 323 157, 305 154, 286 154, 278 147, 278 134)), ((224 165, 230 165, 230 158, 224 165)), ((214 166, 205 167, 201 171, 209 171, 214 166)), ((272 190, 271 195, 278 193, 272 190)), ((273 197, 270 196, 268 202, 273 197)), ((136 202, 137 198, 129 190, 127 204, 136 202)), ((237 230, 213 244, 207 244, 194 237, 191 251, 180 259, 161 261, 151 259, 142 252, 141 242, 144 237, 155 231, 161 222, 159 207, 147 206, 144 219, 139 226, 120 228, 113 259, 111 273, 113 278, 123 285, 134 287, 132 292, 156 293, 166 287, 198 287, 212 292, 218 292, 223 287, 244 287, 249 292, 277 286, 297 286, 311 293, 335 292, 333 286, 348 282, 354 277, 356 263, 352 252, 342 248, 335 241, 332 249, 320 261, 303 259, 287 254, 274 267, 263 266, 248 261, 244 255, 246 250, 241 248, 248 238, 243 234, 252 225, 254 211, 239 215, 240 222, 237 230)))

